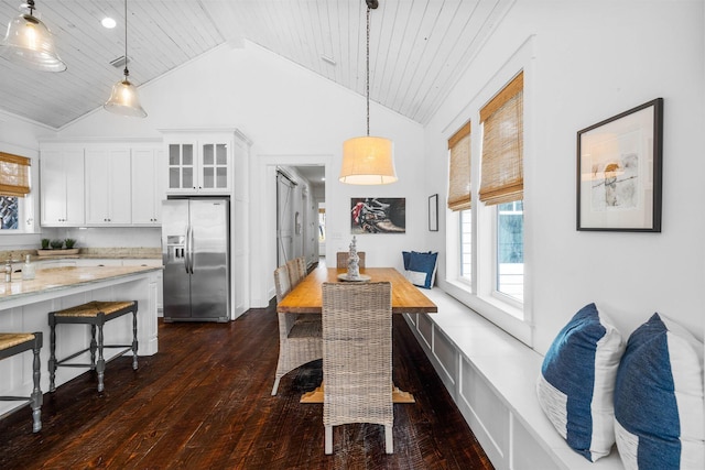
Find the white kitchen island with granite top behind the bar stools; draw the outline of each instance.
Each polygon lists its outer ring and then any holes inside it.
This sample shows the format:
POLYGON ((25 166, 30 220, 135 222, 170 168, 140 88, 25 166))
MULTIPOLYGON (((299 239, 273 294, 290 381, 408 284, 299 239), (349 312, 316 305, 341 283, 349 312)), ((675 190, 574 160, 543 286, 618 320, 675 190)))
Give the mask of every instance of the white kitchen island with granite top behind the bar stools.
MULTIPOLYGON (((0 283, 0 331, 44 334, 42 347, 42 391, 48 390, 50 328, 47 314, 90 300, 138 300, 139 356, 152 356, 158 351, 156 299, 161 266, 94 266, 51 267, 37 270, 36 277, 22 281, 21 274, 13 275, 10 283, 0 283)), ((66 327, 59 325, 57 328, 66 327)), ((72 326, 63 328, 56 345, 58 357, 68 356, 87 348, 90 342, 90 327, 72 326)), ((132 340, 132 318, 124 316, 111 320, 105 328, 106 343, 129 343, 132 340)), ((106 350, 106 360, 113 350, 106 350)), ((86 357, 77 362, 89 362, 86 357)), ((28 395, 32 390, 32 354, 23 353, 0 361, 0 395, 28 395)), ((109 390, 110 365, 106 373, 109 390)), ((85 373, 83 368, 59 368, 56 385, 85 373)), ((61 387, 56 393, 61 393, 61 387)), ((0 415, 17 406, 17 403, 1 402, 0 415)))

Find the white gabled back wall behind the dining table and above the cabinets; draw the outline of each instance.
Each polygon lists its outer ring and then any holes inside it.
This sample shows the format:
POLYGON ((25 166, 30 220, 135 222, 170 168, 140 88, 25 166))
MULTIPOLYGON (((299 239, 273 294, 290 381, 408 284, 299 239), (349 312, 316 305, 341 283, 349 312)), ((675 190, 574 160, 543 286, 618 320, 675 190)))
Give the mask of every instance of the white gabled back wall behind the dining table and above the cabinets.
POLYGON ((69 136, 160 136, 160 129, 235 127, 252 142, 250 150, 251 303, 273 296, 275 261, 276 165, 325 164, 328 243, 326 254, 347 250, 351 197, 405 197, 406 233, 358 237, 370 265, 401 266, 401 250, 424 248, 426 198, 422 189, 423 129, 375 103, 370 131, 394 141, 399 182, 383 187, 338 183, 346 139, 365 134, 365 98, 270 52, 246 43, 220 46, 140 88, 147 119, 104 110, 58 132, 69 136))

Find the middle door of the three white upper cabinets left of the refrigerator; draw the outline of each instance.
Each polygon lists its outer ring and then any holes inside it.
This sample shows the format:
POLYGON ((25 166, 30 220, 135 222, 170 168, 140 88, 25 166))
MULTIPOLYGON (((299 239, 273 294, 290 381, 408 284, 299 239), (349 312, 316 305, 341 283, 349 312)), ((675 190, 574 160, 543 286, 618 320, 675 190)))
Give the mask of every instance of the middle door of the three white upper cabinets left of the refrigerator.
POLYGON ((132 222, 130 149, 86 150, 86 223, 132 222))

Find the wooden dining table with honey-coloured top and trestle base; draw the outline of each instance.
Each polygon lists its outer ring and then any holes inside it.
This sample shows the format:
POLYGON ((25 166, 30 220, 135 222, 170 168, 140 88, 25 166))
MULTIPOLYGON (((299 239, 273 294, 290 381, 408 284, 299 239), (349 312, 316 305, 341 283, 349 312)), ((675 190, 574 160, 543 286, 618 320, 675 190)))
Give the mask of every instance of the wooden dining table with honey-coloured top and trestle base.
MULTIPOLYGON (((322 314, 323 288, 325 282, 347 282, 338 278, 346 269, 319 266, 294 286, 276 305, 278 313, 322 314)), ((433 314, 438 307, 393 267, 361 267, 360 275, 369 276, 369 282, 389 282, 392 285, 392 314, 433 314)), ((415 403, 411 393, 392 384, 394 403, 415 403)), ((323 403, 323 384, 304 394, 301 403, 323 403)))

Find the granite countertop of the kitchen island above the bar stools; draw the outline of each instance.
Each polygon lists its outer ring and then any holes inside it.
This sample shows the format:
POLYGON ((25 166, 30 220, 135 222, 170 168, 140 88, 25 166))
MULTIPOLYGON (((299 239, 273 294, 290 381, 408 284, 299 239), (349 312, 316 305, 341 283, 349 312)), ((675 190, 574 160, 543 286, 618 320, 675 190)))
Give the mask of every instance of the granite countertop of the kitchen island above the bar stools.
POLYGON ((161 266, 50 267, 37 270, 36 277, 31 281, 23 281, 22 275, 15 273, 12 282, 0 282, 0 303, 21 296, 62 291, 161 269, 161 266))

